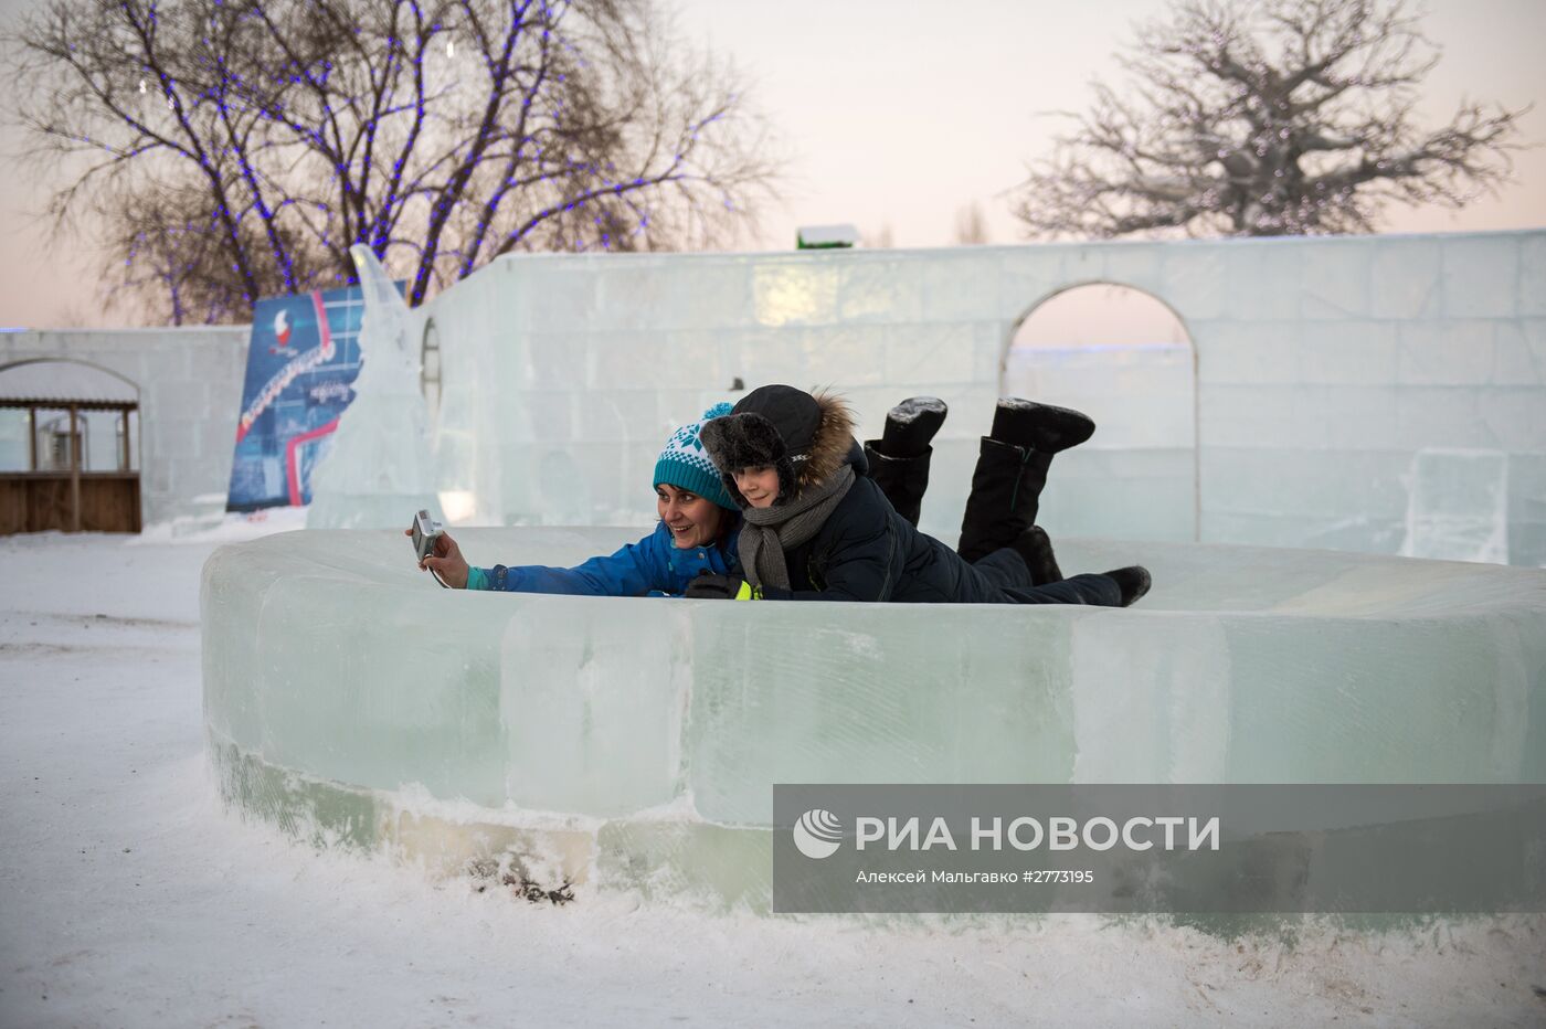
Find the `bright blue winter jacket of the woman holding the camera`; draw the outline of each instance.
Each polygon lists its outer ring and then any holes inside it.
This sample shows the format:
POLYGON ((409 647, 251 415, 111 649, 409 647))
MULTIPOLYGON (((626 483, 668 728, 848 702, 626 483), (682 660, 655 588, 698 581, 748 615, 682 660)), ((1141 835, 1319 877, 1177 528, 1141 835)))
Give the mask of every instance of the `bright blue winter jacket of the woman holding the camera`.
MULTIPOLYGON (((737 519, 739 521, 739 519, 737 519)), ((570 593, 580 596, 666 596, 686 592, 700 572, 725 575, 734 565, 737 525, 724 548, 710 544, 679 550, 665 522, 635 544, 606 558, 591 558, 575 569, 540 564, 507 569, 470 569, 467 589, 509 593, 570 593)))

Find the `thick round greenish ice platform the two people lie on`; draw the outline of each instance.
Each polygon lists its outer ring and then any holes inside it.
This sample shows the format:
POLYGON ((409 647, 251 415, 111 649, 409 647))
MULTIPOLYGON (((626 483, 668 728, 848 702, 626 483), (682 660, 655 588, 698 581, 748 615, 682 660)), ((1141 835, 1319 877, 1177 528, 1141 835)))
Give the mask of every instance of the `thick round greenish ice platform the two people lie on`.
MULTIPOLYGON (((635 535, 458 538, 567 564, 635 535)), ((776 782, 1546 782, 1546 572, 1062 542, 1065 569, 1153 570, 1108 610, 447 592, 411 556, 305 531, 209 559, 232 803, 442 854, 445 827, 558 825, 601 868, 725 861, 733 893, 776 782)))

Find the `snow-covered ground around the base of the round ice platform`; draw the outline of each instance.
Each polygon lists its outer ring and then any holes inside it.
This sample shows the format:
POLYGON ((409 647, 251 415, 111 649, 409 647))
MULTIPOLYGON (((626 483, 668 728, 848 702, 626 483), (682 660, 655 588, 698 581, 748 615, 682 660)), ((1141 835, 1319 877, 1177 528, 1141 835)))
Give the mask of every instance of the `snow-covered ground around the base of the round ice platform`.
POLYGON ((1292 944, 1057 916, 880 927, 533 905, 226 814, 213 548, 0 539, 0 1026, 1538 1026, 1546 918, 1292 944))

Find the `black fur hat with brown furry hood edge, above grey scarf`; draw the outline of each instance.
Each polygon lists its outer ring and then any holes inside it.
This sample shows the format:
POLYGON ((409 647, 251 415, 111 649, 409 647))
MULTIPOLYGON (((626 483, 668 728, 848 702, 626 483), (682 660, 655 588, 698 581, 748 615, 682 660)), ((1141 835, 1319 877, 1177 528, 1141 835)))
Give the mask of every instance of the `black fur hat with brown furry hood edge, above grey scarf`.
POLYGON ((824 482, 849 456, 853 414, 838 397, 793 386, 759 386, 720 419, 703 423, 703 447, 720 470, 725 491, 741 507, 734 473, 770 467, 778 471, 775 507, 788 504, 809 484, 824 482))

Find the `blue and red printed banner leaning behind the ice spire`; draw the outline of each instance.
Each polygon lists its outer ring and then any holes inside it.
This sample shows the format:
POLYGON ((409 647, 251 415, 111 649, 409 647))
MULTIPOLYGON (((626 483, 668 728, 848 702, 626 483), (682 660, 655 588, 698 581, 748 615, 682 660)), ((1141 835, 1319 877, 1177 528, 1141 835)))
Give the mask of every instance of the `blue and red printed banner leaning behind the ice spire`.
POLYGON ((359 286, 258 301, 227 511, 311 502, 311 470, 354 399, 363 317, 359 286))

